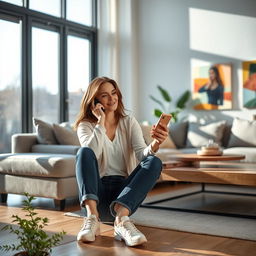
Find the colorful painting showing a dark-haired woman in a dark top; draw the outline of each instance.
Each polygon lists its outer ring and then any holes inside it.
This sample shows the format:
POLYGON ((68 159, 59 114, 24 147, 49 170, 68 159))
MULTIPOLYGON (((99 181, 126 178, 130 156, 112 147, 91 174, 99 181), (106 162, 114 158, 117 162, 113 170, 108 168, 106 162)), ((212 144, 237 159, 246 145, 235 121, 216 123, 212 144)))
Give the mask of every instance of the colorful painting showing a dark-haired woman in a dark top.
POLYGON ((192 99, 196 110, 222 110, 232 108, 231 64, 192 64, 192 99), (206 90, 210 67, 216 67, 220 83, 216 90, 206 90), (215 99, 213 99, 215 97, 215 99), (218 98, 217 98, 218 97, 218 98))

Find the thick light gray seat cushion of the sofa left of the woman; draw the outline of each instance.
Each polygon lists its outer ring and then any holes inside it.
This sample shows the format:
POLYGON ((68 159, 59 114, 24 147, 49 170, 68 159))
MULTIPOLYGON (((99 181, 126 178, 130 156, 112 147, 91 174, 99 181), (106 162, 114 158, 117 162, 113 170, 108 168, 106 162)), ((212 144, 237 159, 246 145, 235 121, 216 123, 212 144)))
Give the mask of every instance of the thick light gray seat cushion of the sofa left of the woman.
POLYGON ((75 156, 64 154, 17 153, 0 155, 0 173, 30 177, 75 176, 75 156))

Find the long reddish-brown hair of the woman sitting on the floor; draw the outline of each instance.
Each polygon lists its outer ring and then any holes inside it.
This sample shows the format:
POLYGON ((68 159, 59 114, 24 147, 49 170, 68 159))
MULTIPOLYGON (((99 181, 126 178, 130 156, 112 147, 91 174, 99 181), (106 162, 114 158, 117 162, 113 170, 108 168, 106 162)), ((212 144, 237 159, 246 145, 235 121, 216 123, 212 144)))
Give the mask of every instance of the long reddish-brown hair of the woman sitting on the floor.
POLYGON ((89 121, 91 123, 96 123, 98 121, 98 119, 92 113, 91 107, 92 107, 92 102, 94 101, 94 99, 98 94, 100 86, 104 83, 111 83, 116 89, 117 96, 118 96, 118 105, 117 105, 115 114, 116 114, 117 120, 126 116, 124 104, 122 101, 123 96, 121 94, 120 89, 118 88, 116 81, 108 77, 96 77, 91 81, 86 92, 83 95, 83 98, 80 104, 80 111, 77 115, 77 119, 74 124, 74 129, 77 129, 78 125, 82 121, 89 121))

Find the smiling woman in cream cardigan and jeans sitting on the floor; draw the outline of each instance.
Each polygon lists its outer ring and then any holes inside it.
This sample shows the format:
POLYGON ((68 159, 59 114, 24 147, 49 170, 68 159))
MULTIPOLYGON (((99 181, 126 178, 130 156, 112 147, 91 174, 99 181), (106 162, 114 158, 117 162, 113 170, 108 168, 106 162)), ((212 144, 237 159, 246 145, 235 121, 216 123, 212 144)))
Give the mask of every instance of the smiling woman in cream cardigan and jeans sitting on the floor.
POLYGON ((168 136, 167 127, 156 130, 153 126, 154 140, 147 146, 138 122, 124 112, 117 83, 99 77, 83 96, 75 128, 82 146, 77 153, 76 177, 81 206, 87 212, 77 240, 94 241, 100 234, 100 218, 114 221, 115 238, 128 246, 146 242, 128 216, 161 173, 162 163, 154 154, 168 136))

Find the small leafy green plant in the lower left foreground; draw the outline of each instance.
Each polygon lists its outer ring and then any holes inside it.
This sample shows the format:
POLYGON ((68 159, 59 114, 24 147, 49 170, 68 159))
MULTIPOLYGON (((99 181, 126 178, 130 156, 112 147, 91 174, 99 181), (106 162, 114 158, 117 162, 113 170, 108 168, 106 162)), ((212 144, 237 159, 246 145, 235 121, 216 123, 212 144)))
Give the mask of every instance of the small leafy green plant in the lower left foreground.
POLYGON ((49 236, 43 228, 49 222, 48 218, 37 216, 35 208, 31 202, 35 198, 25 193, 26 199, 23 200, 23 208, 26 212, 26 218, 20 218, 18 215, 12 215, 13 223, 18 225, 18 229, 12 225, 6 225, 2 230, 9 230, 10 233, 17 235, 18 244, 2 245, 0 250, 3 251, 21 251, 15 256, 48 256, 52 247, 59 244, 66 232, 49 236))

